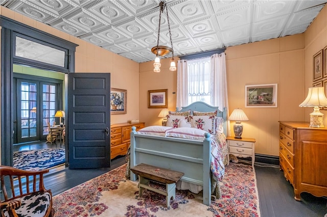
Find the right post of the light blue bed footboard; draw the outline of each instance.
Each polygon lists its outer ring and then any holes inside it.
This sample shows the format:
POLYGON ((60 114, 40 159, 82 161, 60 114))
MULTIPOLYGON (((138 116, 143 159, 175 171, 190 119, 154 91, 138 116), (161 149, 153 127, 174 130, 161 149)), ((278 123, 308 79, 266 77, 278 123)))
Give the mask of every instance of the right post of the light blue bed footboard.
POLYGON ((203 204, 211 204, 211 173, 210 173, 210 159, 211 159, 211 139, 210 133, 204 134, 203 141, 203 204))

